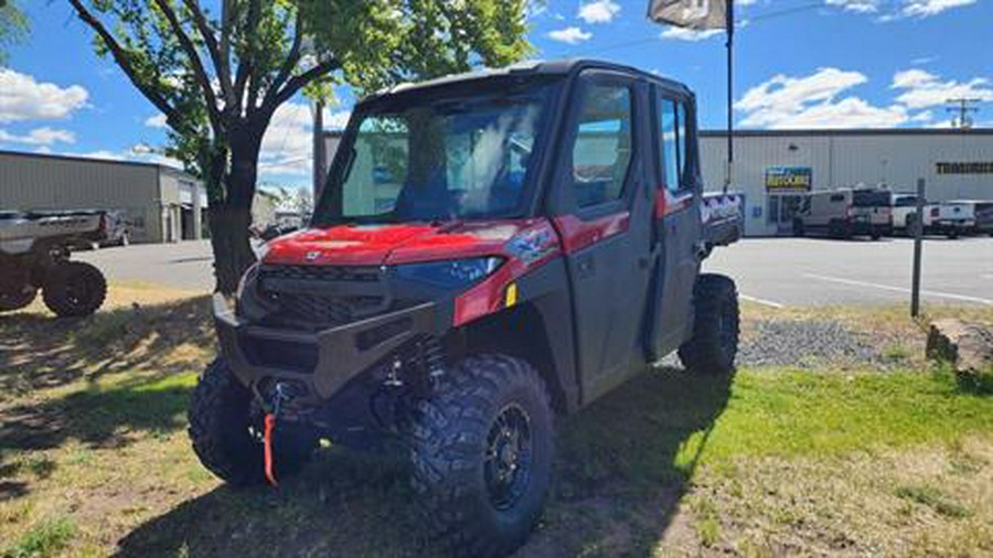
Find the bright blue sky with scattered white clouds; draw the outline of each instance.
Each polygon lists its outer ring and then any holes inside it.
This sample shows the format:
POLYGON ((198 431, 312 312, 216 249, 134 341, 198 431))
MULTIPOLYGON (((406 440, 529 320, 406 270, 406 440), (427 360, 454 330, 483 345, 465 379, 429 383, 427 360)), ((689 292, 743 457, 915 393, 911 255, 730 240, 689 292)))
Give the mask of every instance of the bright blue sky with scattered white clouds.
MULTIPOLYGON (((30 40, 0 67, 0 149, 159 160, 157 111, 90 47, 67 2, 22 2, 30 40)), ((745 128, 949 126, 944 100, 983 99, 993 127, 993 0, 748 0, 738 6, 735 120, 745 128)), ((647 21, 645 2, 548 0, 532 9, 536 57, 590 56, 687 83, 704 128, 725 120, 724 34, 647 21)), ((348 96, 343 98, 348 99, 348 96)), ((341 125, 349 103, 329 110, 341 125)), ((267 133, 264 181, 309 183, 310 110, 295 99, 267 133)))

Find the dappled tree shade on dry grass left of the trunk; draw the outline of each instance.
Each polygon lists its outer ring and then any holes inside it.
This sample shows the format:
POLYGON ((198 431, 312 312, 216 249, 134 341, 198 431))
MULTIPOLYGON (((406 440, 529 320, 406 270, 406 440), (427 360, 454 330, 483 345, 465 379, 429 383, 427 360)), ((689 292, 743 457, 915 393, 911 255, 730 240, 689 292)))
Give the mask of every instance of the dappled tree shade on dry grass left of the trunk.
POLYGON ((84 319, 18 313, 0 318, 0 400, 81 378, 129 371, 170 373, 199 366, 177 353, 213 344, 207 297, 118 308, 84 319))

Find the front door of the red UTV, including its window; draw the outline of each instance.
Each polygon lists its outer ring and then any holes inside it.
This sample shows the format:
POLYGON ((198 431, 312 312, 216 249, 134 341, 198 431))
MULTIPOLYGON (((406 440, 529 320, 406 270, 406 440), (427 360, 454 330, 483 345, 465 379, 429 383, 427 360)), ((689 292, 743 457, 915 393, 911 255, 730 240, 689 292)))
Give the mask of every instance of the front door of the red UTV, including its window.
POLYGON ((556 218, 572 283, 584 400, 643 365, 651 198, 648 84, 585 71, 564 126, 556 218), (644 117, 642 117, 644 115, 644 117))

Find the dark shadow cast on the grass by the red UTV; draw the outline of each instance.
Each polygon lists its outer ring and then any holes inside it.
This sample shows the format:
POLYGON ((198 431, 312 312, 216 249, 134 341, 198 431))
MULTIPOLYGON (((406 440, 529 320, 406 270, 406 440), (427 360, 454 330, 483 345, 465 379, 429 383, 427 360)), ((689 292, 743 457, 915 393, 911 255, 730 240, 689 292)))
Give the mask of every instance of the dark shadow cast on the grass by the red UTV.
MULTIPOLYGON (((730 378, 645 373, 558 429, 556 481, 519 556, 647 555, 671 523, 730 378)), ((405 468, 324 451, 277 490, 221 486, 136 528, 120 556, 430 556, 405 468)))

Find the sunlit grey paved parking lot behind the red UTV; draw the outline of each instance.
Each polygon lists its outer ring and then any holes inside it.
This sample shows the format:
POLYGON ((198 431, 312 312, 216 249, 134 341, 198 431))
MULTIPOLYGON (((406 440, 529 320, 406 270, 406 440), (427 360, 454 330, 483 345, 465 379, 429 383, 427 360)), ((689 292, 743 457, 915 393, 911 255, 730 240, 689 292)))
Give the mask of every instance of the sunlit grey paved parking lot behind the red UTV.
MULTIPOLYGON (((735 278, 744 298, 768 305, 879 304, 909 300, 914 243, 906 238, 754 238, 715 250, 705 269, 735 278)), ((213 288, 207 242, 81 253, 111 281, 213 288)), ((923 301, 993 305, 993 238, 925 242, 923 301)))

